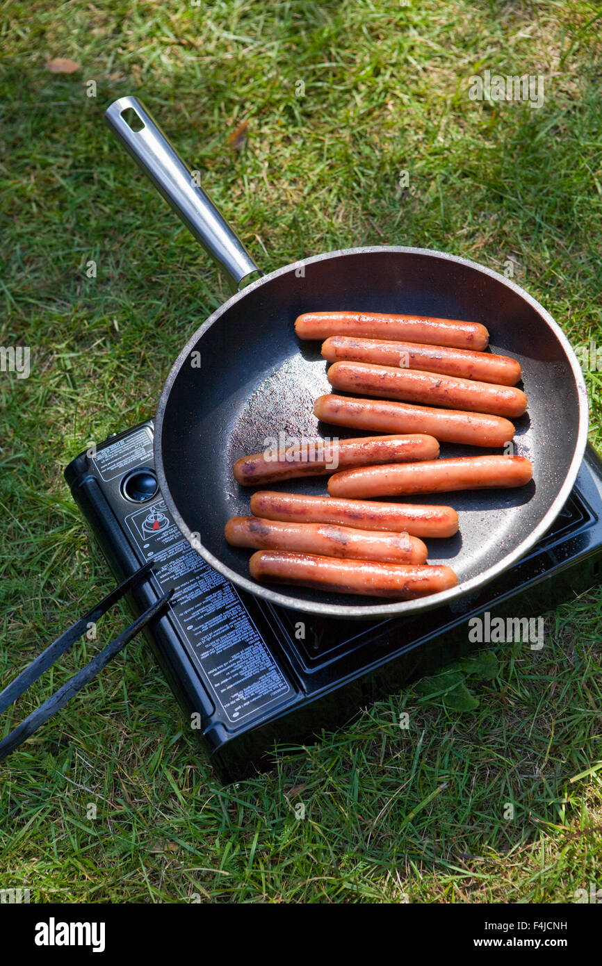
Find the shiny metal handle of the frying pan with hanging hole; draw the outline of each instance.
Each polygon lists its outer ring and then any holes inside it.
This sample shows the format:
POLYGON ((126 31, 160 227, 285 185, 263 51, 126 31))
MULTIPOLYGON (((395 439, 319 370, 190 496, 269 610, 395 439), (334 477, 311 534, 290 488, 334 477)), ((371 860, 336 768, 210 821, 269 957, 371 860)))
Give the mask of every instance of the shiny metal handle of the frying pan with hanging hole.
MULTIPOLYGON (((186 228, 227 272, 233 287, 242 288, 244 279, 259 269, 146 108, 137 98, 120 98, 113 101, 104 116, 186 228), (126 111, 130 118, 131 111, 137 116, 138 129, 131 127, 124 116, 126 111)), ((135 123, 135 118, 132 121, 135 123)))

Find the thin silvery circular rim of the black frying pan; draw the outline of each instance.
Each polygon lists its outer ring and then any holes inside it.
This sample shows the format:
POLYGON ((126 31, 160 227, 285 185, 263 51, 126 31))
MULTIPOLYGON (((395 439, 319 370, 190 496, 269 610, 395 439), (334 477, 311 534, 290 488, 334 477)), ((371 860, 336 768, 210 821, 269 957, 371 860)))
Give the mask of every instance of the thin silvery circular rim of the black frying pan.
POLYGON ((312 255, 308 258, 301 259, 298 262, 293 262, 290 265, 275 269, 269 274, 263 275, 261 278, 252 282, 242 291, 235 293, 231 298, 228 298, 222 305, 220 305, 219 308, 217 308, 215 312, 202 324, 202 326, 198 327, 188 339, 186 346, 172 365, 158 402, 157 416, 155 421, 154 449, 155 467, 158 475, 159 490, 161 496, 165 499, 165 503, 167 504, 167 508, 171 513, 174 522, 180 529, 181 533, 186 537, 186 540, 192 546, 192 548, 223 577, 232 582, 235 586, 240 587, 252 594, 254 597, 261 597, 263 600, 267 600, 277 607, 287 608, 293 611, 301 611, 303 613, 311 613, 324 617, 358 618, 369 620, 370 618, 376 617, 387 618, 401 616, 404 613, 416 613, 418 611, 433 610, 443 606, 444 604, 451 603, 452 601, 465 597, 467 594, 470 594, 471 591, 476 590, 477 588, 480 589, 508 570, 512 564, 516 563, 521 559, 521 557, 525 556, 525 554, 530 551, 530 549, 546 533, 546 531, 556 520, 560 510, 562 509, 562 506, 569 497, 577 478, 577 473, 579 472, 585 455, 587 442, 588 392, 581 366, 579 365, 579 361, 570 342, 564 335, 562 329, 559 327, 559 324, 543 307, 543 305, 540 304, 540 302, 538 302, 535 298, 532 298, 528 292, 522 289, 515 282, 512 282, 504 275, 500 274, 500 272, 489 269, 486 266, 479 265, 477 262, 473 262, 471 259, 461 258, 458 255, 452 255, 448 252, 439 251, 438 249, 434 248, 415 248, 405 245, 369 245, 358 248, 340 248, 335 251, 322 252, 319 255, 312 255), (322 604, 320 602, 312 603, 310 601, 300 600, 299 598, 292 597, 288 594, 280 593, 276 590, 273 590, 272 587, 268 585, 263 585, 258 582, 251 581, 248 578, 242 577, 236 571, 225 566, 215 556, 215 554, 212 554, 212 552, 193 535, 193 531, 189 529, 182 515, 178 511, 175 500, 170 493, 163 469, 161 445, 163 419, 171 388, 175 383, 182 366, 185 364, 186 359, 190 355, 190 352, 194 349, 199 339, 203 337, 205 332, 207 332, 210 327, 215 325, 215 323, 226 311, 228 311, 229 308, 241 301, 241 299, 245 298, 248 294, 250 294, 250 292, 268 284, 268 282, 272 281, 273 278, 277 278, 279 275, 291 270, 299 269, 301 266, 312 265, 316 262, 324 261, 330 258, 337 258, 340 256, 368 255, 385 251, 387 253, 400 255, 426 255, 435 259, 441 259, 448 262, 454 262, 458 265, 467 266, 468 268, 480 271, 482 274, 488 275, 490 278, 494 278, 497 281, 502 282, 502 284, 510 291, 516 293, 521 298, 524 298, 555 333, 573 372, 573 377, 577 387, 579 406, 577 440, 570 466, 564 477, 562 486, 559 489, 559 493, 557 497, 555 497, 544 517, 540 520, 539 524, 530 530, 529 535, 517 547, 515 547, 513 551, 511 551, 509 554, 506 554, 504 557, 502 557, 502 560, 499 560, 491 567, 488 567, 487 570, 481 572, 476 577, 473 577, 471 580, 458 583, 457 586, 450 587, 448 590, 444 590, 438 594, 432 594, 428 597, 416 598, 414 600, 397 601, 390 604, 383 603, 355 607, 354 605, 322 604))

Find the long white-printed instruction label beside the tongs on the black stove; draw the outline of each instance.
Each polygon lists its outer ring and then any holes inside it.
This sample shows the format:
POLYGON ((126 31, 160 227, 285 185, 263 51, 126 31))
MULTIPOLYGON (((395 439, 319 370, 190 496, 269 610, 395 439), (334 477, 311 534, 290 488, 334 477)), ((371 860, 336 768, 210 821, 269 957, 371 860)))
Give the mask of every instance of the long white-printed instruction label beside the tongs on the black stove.
POLYGON ((175 589, 170 605, 203 677, 228 721, 279 704, 291 686, 232 583, 192 548, 159 498, 126 517, 144 557, 157 562, 161 591, 175 589))

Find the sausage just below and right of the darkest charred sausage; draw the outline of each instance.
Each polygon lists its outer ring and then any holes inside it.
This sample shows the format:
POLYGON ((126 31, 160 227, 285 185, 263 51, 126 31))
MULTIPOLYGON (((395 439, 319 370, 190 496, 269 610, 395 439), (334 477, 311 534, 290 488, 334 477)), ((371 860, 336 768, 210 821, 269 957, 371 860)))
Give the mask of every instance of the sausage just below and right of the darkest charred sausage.
POLYGON ((331 497, 397 497, 525 486, 532 476, 526 456, 461 456, 432 463, 361 467, 335 473, 331 497))

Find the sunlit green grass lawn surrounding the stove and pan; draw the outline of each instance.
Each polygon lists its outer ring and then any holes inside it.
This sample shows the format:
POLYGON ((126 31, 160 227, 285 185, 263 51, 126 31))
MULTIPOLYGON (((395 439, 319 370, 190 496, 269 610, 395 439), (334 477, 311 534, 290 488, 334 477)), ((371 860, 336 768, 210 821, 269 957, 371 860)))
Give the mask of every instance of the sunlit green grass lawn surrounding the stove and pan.
MULTIPOLYGON (((0 344, 30 346, 32 371, 0 374, 0 679, 112 586, 63 467, 154 413, 188 334, 227 295, 116 146, 106 105, 143 97, 264 270, 387 242, 497 270, 510 259, 575 347, 602 345, 601 19, 582 0, 3 5, 0 344), (80 69, 50 73, 52 57, 80 69), (471 101, 485 69, 544 75, 543 107, 471 101)), ((599 445, 600 374, 587 381, 599 445)), ((601 885, 601 611, 593 588, 547 616, 542 651, 494 646, 473 711, 418 685, 227 788, 145 646, 129 645, 3 763, 0 888, 69 902, 572 901, 601 885)))

